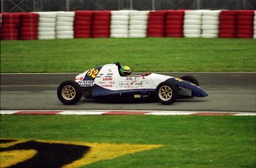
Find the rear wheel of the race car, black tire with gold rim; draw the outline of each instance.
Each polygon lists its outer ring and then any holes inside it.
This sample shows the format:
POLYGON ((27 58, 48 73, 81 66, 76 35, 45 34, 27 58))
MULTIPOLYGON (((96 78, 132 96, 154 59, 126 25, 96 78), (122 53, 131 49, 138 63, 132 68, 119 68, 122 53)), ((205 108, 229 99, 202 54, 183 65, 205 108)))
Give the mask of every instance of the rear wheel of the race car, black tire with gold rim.
POLYGON ((59 84, 57 95, 63 104, 73 105, 80 101, 82 89, 76 81, 63 81, 59 84))

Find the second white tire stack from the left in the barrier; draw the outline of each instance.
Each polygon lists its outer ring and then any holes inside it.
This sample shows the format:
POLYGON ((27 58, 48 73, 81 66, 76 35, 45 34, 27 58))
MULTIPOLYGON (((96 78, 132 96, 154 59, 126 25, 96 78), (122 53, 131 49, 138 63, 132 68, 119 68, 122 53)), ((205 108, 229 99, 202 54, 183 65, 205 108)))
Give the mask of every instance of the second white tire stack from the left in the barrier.
POLYGON ((75 20, 75 12, 58 12, 56 19, 56 38, 67 39, 74 38, 73 22, 75 20))

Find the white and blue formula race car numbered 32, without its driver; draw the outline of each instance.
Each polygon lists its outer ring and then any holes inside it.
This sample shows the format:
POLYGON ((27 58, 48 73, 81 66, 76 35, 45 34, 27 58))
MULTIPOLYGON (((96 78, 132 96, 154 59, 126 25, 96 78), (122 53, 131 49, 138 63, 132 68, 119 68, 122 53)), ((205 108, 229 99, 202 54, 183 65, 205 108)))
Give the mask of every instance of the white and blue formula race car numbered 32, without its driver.
POLYGON ((175 78, 148 73, 121 76, 119 62, 94 67, 76 76, 76 81, 63 81, 57 95, 63 104, 76 104, 82 97, 94 99, 154 99, 162 104, 172 104, 177 98, 205 97, 191 75, 175 78))

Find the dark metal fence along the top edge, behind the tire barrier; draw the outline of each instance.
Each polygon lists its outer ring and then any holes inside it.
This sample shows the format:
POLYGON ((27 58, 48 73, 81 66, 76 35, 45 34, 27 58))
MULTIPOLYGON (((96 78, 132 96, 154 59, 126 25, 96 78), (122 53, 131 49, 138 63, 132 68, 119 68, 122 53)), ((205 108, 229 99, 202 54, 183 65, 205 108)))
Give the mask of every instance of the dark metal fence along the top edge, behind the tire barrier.
POLYGON ((1 12, 70 10, 256 10, 255 0, 1 0, 1 12))

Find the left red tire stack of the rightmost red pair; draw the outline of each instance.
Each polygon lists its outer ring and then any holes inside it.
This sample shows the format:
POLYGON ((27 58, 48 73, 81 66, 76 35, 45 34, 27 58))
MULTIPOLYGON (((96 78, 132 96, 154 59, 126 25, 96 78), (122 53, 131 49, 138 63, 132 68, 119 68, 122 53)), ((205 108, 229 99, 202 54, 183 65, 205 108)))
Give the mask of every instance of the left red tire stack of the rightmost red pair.
POLYGON ((237 33, 237 11, 222 10, 220 12, 220 38, 236 38, 237 33))

